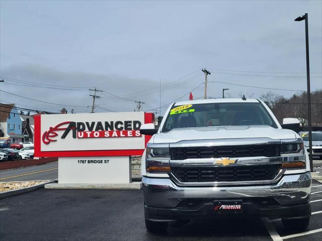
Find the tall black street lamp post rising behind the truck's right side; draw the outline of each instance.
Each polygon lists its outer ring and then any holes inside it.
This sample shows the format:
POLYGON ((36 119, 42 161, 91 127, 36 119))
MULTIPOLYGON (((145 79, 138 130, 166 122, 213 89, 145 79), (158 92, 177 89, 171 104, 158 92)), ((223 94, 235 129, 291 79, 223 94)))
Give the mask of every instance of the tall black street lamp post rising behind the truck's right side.
POLYGON ((305 20, 305 43, 306 43, 306 81, 307 81, 307 112, 308 112, 308 145, 311 172, 313 171, 312 156, 312 125, 311 125, 311 90, 310 90, 310 63, 308 57, 308 17, 307 14, 297 17, 294 21, 305 20))

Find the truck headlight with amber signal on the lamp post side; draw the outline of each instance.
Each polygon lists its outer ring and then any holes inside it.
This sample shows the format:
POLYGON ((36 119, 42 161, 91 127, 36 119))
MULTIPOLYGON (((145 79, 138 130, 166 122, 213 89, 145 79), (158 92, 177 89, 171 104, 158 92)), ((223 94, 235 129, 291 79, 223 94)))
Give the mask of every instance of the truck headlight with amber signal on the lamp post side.
POLYGON ((304 144, 301 139, 282 140, 281 156, 283 157, 282 168, 302 169, 306 167, 304 144))

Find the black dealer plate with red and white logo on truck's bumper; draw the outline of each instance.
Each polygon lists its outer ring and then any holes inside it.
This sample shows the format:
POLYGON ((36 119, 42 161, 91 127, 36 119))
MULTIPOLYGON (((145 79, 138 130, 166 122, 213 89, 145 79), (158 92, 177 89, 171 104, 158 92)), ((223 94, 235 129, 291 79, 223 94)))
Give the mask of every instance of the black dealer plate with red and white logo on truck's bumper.
POLYGON ((214 201, 213 212, 216 214, 241 214, 243 213, 242 200, 214 201))

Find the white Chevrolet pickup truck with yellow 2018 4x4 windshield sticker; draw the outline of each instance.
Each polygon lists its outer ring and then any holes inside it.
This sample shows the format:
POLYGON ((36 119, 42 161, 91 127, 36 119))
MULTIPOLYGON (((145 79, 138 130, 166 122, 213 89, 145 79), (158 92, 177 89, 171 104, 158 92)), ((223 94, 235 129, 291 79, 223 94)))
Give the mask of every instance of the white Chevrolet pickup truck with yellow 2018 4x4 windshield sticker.
POLYGON ((145 224, 224 216, 282 218, 305 229, 311 215, 307 151, 258 99, 173 103, 142 156, 145 224))

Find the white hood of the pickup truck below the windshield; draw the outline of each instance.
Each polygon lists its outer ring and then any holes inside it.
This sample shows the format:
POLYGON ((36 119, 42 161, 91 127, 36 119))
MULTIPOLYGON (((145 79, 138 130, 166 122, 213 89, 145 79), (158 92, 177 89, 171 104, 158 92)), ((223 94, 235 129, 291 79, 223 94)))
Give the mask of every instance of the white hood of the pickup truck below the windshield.
POLYGON ((167 133, 158 133, 153 143, 176 143, 188 140, 214 140, 237 138, 296 139, 296 133, 287 129, 270 126, 222 126, 200 128, 177 128, 167 133))

